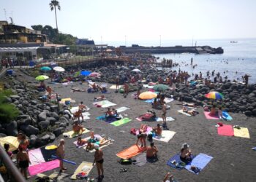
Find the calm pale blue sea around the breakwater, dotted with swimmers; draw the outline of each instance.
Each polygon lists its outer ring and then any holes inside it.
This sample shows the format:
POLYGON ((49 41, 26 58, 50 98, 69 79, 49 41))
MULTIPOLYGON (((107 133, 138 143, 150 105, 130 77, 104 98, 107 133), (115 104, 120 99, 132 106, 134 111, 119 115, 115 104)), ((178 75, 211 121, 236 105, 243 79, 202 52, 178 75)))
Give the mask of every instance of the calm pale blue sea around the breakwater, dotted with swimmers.
MULTIPOLYGON (((128 44, 127 46, 130 46, 128 44)), ((193 41, 195 45, 195 40, 193 41)), ((124 42, 108 42, 109 45, 124 45, 124 42)), ((143 46, 159 46, 160 41, 139 41, 131 44, 139 44, 143 46)), ((182 41, 161 41, 161 46, 191 46, 192 40, 182 41)), ((157 54, 159 60, 162 58, 172 59, 178 62, 181 71, 188 71, 189 74, 198 74, 202 71, 206 76, 206 71, 219 71, 222 77, 227 76, 228 79, 239 79, 244 74, 249 74, 249 83, 256 83, 256 39, 215 39, 215 40, 197 40, 197 46, 209 45, 211 47, 222 47, 224 53, 221 55, 195 55, 185 54, 157 54), (237 43, 230 43, 237 41, 237 43), (193 58, 193 64, 197 64, 193 69, 190 66, 190 60, 193 58), (225 73, 224 73, 225 71, 225 73), (236 74, 237 71, 237 74, 236 74)), ((178 71, 179 67, 173 68, 178 71)), ((213 78, 211 78, 213 79, 213 78)))

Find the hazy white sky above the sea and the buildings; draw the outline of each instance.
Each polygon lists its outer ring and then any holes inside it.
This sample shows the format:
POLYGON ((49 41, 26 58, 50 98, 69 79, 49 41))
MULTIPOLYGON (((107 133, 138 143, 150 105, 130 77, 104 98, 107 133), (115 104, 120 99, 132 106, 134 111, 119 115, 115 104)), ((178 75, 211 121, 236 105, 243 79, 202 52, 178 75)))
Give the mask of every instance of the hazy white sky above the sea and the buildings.
MULTIPOLYGON (((59 0, 59 31, 100 42, 256 37, 256 0, 59 0)), ((0 0, 0 20, 51 25, 50 0, 0 0)))

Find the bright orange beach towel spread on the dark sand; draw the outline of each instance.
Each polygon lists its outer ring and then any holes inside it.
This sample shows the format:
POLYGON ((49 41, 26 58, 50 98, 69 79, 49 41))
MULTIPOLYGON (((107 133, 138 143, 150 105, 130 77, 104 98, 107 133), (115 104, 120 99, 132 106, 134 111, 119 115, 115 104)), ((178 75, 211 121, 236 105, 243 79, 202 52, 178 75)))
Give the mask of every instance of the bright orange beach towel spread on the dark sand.
POLYGON ((121 159, 130 159, 132 157, 137 156, 141 152, 146 151, 146 147, 140 147, 137 145, 130 146, 128 149, 124 149, 124 151, 118 152, 116 154, 117 157, 120 157, 121 159))

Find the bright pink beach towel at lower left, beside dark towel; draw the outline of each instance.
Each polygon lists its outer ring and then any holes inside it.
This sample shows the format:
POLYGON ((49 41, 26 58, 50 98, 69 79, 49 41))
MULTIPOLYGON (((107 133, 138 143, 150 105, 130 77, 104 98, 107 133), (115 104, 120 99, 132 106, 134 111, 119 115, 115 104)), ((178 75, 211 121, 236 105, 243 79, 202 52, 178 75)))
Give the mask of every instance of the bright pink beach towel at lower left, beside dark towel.
POLYGON ((53 170, 59 167, 59 159, 52 160, 50 162, 44 162, 38 165, 29 166, 29 174, 37 175, 38 173, 43 173, 48 170, 53 170))

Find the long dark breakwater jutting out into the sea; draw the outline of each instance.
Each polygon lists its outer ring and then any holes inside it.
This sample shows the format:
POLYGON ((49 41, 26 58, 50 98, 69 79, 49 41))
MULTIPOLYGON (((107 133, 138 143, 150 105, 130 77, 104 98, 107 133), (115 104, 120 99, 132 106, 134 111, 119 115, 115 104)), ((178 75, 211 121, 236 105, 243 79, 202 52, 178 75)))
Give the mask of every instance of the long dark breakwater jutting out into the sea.
POLYGON ((151 54, 165 54, 165 53, 195 53, 195 54, 222 54, 224 50, 222 47, 213 48, 210 46, 197 46, 197 47, 143 47, 132 45, 132 47, 120 47, 122 52, 125 53, 151 53, 151 54))

